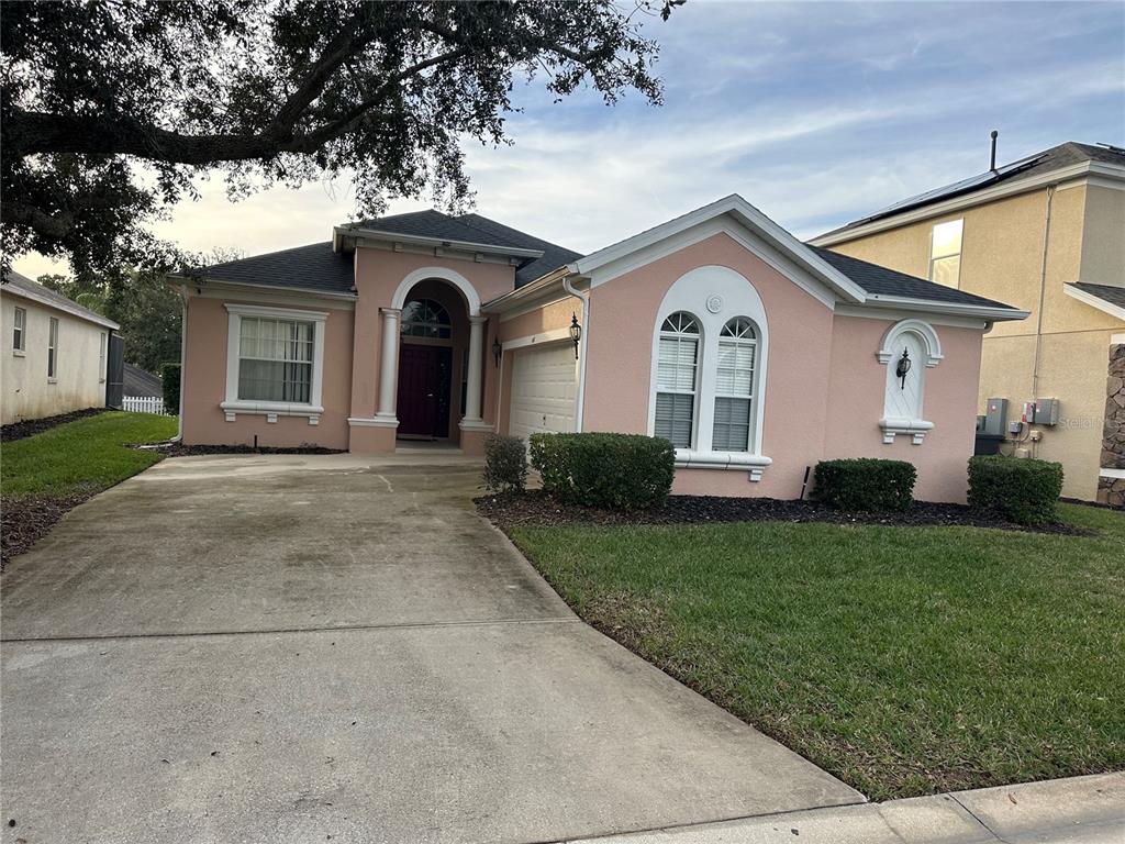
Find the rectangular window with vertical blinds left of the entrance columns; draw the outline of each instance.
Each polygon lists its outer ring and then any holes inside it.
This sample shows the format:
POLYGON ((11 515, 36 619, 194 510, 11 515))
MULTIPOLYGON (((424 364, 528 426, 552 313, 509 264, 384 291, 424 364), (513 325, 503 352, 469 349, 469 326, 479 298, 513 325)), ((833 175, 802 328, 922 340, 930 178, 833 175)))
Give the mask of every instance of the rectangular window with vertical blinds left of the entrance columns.
POLYGON ((238 398, 308 404, 313 323, 244 316, 238 336, 238 398))

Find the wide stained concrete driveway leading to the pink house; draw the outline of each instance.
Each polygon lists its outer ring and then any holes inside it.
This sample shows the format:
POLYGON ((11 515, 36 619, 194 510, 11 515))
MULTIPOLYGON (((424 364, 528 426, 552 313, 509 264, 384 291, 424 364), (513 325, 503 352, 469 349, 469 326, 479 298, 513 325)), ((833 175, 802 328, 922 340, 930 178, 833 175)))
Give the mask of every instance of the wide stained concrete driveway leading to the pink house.
POLYGON ((0 842, 549 842, 863 800, 578 621, 478 478, 181 458, 73 511, 0 582, 0 842))

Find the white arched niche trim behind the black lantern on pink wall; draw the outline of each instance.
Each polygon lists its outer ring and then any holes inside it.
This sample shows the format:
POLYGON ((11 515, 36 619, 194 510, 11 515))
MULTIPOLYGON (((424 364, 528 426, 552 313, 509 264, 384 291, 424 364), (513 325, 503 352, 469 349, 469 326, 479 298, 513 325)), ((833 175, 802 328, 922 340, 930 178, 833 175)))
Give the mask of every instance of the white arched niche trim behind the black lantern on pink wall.
POLYGON ((883 430, 883 442, 890 445, 899 434, 910 437, 915 446, 920 446, 934 423, 924 419, 926 399, 926 370, 942 362, 942 342, 934 326, 921 320, 902 320, 894 323, 883 334, 883 342, 875 352, 879 362, 886 367, 883 376, 883 416, 879 427, 883 430), (906 387, 896 377, 896 368, 907 339, 921 350, 921 359, 912 360, 906 387), (909 390, 909 399, 903 401, 902 390, 909 390))

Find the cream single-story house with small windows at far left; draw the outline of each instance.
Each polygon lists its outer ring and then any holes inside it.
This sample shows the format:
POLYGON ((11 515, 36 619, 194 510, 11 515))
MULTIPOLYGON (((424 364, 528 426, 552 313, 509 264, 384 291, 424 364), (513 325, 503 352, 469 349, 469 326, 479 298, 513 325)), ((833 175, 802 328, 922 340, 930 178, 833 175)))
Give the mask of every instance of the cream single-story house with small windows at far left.
POLYGON ((0 285, 3 424, 106 405, 117 323, 18 272, 0 285))

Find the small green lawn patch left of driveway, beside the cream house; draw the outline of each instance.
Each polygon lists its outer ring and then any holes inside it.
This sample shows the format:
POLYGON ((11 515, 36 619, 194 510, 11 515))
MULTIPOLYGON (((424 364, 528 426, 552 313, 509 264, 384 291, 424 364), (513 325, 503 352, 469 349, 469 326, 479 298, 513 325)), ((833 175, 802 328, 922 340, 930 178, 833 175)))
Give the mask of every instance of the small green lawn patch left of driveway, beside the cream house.
POLYGON ((0 494, 6 499, 92 494, 160 460, 153 451, 126 448, 176 434, 174 416, 100 413, 0 446, 0 494))

